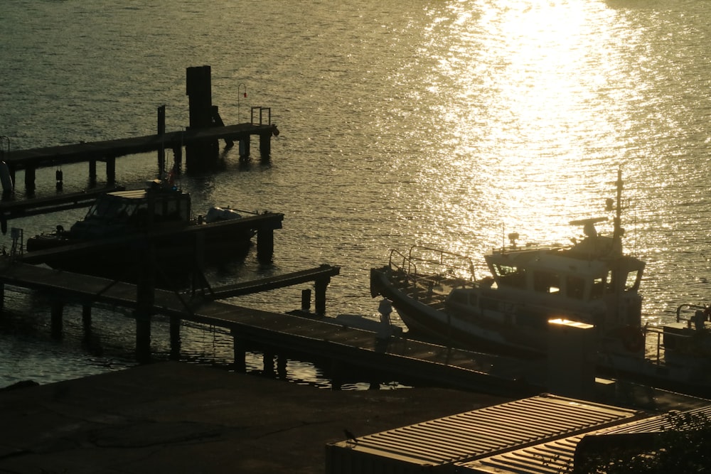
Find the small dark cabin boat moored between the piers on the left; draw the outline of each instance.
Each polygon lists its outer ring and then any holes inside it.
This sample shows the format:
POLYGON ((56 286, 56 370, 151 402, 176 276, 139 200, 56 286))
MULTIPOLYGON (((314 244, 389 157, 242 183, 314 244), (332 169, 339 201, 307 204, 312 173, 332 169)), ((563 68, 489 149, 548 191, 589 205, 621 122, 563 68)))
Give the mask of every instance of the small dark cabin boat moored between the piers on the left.
POLYGON ((155 258, 161 271, 244 256, 255 230, 242 213, 210 208, 193 217, 191 197, 173 185, 100 195, 87 215, 65 230, 30 237, 26 257, 55 269, 133 281, 155 258))

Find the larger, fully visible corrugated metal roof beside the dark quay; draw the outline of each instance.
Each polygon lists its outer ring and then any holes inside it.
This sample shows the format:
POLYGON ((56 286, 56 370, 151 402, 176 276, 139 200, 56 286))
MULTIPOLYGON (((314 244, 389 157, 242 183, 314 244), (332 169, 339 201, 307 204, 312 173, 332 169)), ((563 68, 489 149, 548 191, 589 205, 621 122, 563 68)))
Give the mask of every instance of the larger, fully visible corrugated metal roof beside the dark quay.
POLYGON ((442 465, 592 431, 636 414, 615 406, 541 395, 363 436, 348 449, 442 465))

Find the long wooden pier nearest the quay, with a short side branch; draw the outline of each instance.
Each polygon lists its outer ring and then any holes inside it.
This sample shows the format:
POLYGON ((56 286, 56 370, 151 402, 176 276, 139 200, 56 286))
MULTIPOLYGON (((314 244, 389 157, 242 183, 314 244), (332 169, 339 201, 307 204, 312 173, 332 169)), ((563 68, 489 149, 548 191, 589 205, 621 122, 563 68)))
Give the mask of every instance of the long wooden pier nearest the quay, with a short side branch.
POLYGON ((151 316, 161 314, 170 318, 171 352, 179 354, 181 321, 190 321, 213 328, 223 328, 234 340, 235 368, 245 369, 245 351, 257 346, 264 351, 264 366, 273 367, 274 355, 304 354, 318 360, 330 361, 333 387, 340 387, 343 369, 358 367, 378 375, 388 374, 401 379, 412 379, 428 384, 461 389, 476 389, 492 394, 535 394, 542 384, 532 379, 540 370, 533 370, 519 361, 444 348, 405 338, 379 339, 377 333, 334 323, 324 318, 303 318, 286 313, 273 313, 215 301, 220 296, 231 296, 238 291, 284 286, 289 282, 316 281, 325 301, 326 286, 336 267, 319 268, 295 274, 272 277, 265 281, 213 289, 210 297, 154 291, 146 307, 139 301, 137 286, 118 281, 73 274, 67 271, 0 259, 0 283, 21 286, 53 295, 51 311, 53 335, 59 336, 63 325, 63 306, 78 303, 84 308, 85 328, 91 326, 91 308, 105 303, 132 309, 136 319, 136 345, 139 360, 149 356, 151 316))

